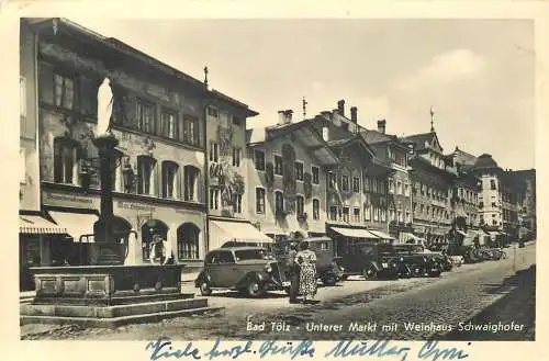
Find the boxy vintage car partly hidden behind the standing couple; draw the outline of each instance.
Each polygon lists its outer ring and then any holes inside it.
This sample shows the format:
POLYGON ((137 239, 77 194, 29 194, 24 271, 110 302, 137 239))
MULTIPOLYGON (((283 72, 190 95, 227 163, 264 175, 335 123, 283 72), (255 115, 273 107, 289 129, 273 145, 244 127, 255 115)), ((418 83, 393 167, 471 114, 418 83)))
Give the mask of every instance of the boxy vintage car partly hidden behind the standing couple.
MULTIPOLYGON (((309 242, 309 249, 316 255, 316 277, 325 285, 334 285, 343 280, 344 270, 335 261, 334 241, 329 237, 311 237, 300 239, 284 239, 273 245, 273 255, 281 263, 288 263, 288 252, 290 244, 294 242, 298 247, 303 240, 309 242)), ((288 277, 288 275, 287 275, 288 277)))

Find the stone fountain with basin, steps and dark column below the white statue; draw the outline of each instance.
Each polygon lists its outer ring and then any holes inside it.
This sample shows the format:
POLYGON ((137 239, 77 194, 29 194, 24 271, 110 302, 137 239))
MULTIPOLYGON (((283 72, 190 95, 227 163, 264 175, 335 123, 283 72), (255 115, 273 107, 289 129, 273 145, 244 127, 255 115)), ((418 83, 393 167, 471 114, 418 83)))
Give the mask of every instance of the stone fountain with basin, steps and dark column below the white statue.
POLYGON ((112 174, 119 140, 107 132, 93 144, 99 154, 101 210, 93 235, 87 236, 92 236, 91 253, 97 256, 85 266, 31 268, 36 295, 31 304, 21 305, 21 324, 112 327, 212 309, 206 298, 181 293, 184 266, 124 264, 128 237, 135 233, 115 227, 112 174))

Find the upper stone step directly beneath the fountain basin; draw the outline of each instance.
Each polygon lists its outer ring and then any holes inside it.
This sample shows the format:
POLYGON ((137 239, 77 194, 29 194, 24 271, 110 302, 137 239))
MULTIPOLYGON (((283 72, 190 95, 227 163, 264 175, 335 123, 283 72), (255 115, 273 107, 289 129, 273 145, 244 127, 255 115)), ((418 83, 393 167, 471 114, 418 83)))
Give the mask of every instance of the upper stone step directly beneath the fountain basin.
POLYGON ((79 318, 116 318, 154 313, 208 307, 208 298, 164 300, 115 306, 21 305, 22 316, 53 316, 79 318))

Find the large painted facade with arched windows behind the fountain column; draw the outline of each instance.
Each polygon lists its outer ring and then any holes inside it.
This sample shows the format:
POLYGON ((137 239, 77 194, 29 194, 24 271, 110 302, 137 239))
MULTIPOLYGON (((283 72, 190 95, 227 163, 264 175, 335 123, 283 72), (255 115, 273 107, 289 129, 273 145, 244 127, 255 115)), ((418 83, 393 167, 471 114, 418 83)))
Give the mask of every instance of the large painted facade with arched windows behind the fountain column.
POLYGON ((200 267, 208 251, 206 155, 212 148, 206 142, 219 134, 208 135, 206 120, 212 128, 221 124, 212 120, 210 106, 219 106, 222 114, 229 111, 234 116, 231 126, 242 116, 240 131, 234 132, 231 140, 242 149, 250 111, 210 91, 202 81, 69 21, 46 20, 34 25, 33 32, 40 34, 42 204, 70 236, 69 245, 59 241, 51 250, 70 264, 83 259, 93 262, 97 256, 92 247, 82 244, 93 241, 89 235, 100 208, 98 154, 92 139, 98 88, 109 77, 113 93, 110 132, 119 139, 112 184, 114 215, 119 227, 137 234, 126 240, 126 263, 150 262, 150 240, 160 235, 172 244, 179 262, 189 269, 200 267))

